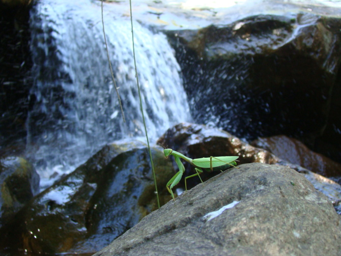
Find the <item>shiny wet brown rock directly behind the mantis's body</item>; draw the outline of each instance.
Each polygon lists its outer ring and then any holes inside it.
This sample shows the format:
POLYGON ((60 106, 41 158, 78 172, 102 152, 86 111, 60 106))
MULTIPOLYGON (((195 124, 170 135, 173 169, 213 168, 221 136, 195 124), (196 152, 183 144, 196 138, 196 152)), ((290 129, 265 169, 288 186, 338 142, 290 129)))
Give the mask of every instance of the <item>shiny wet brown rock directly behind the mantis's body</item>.
MULTIPOLYGON (((315 188, 323 192, 335 206, 337 205, 337 202, 341 200, 341 186, 336 182, 315 174, 300 165, 280 159, 269 151, 250 146, 230 133, 217 128, 198 124, 181 123, 168 129, 158 140, 158 143, 179 151, 192 159, 209 156, 239 156, 238 164, 262 162, 287 166, 303 174, 315 188)), ((193 167, 187 162, 184 162, 184 165, 186 168, 185 177, 195 173, 193 167)), ((175 162, 174 168, 177 169, 175 162)), ((203 180, 207 180, 217 174, 219 174, 219 172, 204 172, 201 177, 203 180)), ((184 188, 182 182, 180 182, 177 187, 184 188)), ((200 180, 197 177, 190 178, 187 180, 187 187, 190 188, 199 183, 200 180)))

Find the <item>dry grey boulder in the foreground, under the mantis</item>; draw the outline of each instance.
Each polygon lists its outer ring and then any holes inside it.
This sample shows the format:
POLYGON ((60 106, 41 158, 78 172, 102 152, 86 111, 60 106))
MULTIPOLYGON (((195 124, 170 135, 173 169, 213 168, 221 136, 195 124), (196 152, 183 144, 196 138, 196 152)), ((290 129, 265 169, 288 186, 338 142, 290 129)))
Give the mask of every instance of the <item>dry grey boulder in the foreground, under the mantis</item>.
POLYGON ((94 254, 338 255, 341 219, 288 167, 232 168, 154 211, 94 254))

